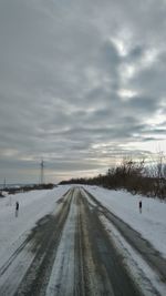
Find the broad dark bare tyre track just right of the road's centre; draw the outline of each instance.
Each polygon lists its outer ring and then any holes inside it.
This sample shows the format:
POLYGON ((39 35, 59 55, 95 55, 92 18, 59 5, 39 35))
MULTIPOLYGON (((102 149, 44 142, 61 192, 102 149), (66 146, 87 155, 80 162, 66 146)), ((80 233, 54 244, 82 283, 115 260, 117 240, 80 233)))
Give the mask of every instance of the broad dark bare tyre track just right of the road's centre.
MULTIPOLYGON (((86 216, 85 229, 92 252, 92 264, 94 266, 95 280, 97 280, 94 287, 90 285, 91 289, 87 295, 143 295, 134 279, 125 269, 123 258, 112 244, 105 227, 101 223, 98 213, 94 208, 92 210, 92 206, 90 206, 84 195, 82 195, 82 203, 86 216)), ((91 271, 89 261, 86 264, 91 271)))

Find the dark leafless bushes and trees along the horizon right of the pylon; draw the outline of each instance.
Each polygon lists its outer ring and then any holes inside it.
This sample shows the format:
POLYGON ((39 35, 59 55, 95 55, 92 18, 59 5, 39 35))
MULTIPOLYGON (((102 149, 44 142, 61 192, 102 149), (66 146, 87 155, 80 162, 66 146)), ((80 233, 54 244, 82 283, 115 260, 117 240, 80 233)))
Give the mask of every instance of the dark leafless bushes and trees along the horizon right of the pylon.
POLYGON ((106 174, 95 177, 81 177, 62 181, 60 184, 87 184, 103 186, 110 190, 126 190, 132 194, 166 198, 166 164, 164 159, 151 166, 145 161, 123 160, 110 169, 106 174))

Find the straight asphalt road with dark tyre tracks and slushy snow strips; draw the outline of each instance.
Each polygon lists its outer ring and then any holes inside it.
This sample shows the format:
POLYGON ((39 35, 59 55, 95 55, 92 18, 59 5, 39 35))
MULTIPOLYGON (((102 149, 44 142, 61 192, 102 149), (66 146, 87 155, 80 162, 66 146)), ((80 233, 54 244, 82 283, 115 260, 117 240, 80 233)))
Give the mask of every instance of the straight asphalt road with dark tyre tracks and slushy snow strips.
MULTIPOLYGON (((164 258, 81 187, 69 190, 0 268, 1 296, 147 296, 127 271, 101 215, 166 279, 164 258)), ((152 294, 159 295, 154 287, 152 294)))

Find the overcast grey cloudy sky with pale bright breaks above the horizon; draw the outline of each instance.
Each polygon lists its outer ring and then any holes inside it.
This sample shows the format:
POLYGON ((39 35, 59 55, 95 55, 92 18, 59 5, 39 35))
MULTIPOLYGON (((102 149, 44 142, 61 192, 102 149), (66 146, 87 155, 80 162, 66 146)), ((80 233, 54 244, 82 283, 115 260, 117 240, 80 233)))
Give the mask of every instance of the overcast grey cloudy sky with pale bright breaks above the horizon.
POLYGON ((0 0, 0 183, 166 153, 166 0, 0 0))

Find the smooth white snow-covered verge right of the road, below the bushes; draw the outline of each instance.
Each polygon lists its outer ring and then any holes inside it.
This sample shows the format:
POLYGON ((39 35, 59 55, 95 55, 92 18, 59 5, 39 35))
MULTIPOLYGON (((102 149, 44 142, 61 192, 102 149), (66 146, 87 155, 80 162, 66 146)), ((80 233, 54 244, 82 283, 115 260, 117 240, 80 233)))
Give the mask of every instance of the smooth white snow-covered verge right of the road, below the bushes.
POLYGON ((166 203, 157 198, 132 195, 124 191, 110 191, 96 186, 86 188, 111 212, 138 231, 166 257, 166 203), (138 210, 141 200, 142 214, 138 210))

